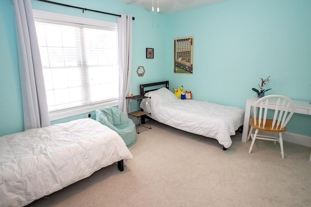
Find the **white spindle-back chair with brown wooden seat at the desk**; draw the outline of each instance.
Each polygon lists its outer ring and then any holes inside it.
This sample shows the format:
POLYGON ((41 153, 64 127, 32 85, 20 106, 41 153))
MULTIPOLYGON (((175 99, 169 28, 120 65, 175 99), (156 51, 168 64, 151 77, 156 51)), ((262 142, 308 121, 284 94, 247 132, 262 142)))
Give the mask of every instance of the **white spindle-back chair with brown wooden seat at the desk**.
POLYGON ((247 141, 251 137, 252 143, 248 153, 251 153, 256 139, 274 141, 275 144, 277 141, 280 143, 281 156, 282 159, 284 159, 282 132, 286 131, 285 126, 291 119, 294 110, 295 104, 293 100, 291 100, 286 96, 270 95, 260 98, 254 105, 254 116, 253 118, 250 119, 252 126, 249 131, 247 141), (272 109, 272 112, 274 111, 273 119, 267 118, 268 105, 270 109, 273 108, 272 109), (254 134, 252 132, 253 129, 256 129, 254 134), (274 132, 275 136, 259 135, 258 134, 259 130, 274 132))

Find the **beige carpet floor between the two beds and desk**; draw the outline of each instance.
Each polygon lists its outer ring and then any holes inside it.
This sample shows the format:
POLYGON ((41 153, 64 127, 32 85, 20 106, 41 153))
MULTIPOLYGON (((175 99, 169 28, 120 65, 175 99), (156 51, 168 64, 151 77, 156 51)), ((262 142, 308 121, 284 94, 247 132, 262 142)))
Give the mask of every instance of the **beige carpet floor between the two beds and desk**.
POLYGON ((152 121, 124 171, 105 167, 29 207, 310 207, 311 148, 217 140, 152 121))

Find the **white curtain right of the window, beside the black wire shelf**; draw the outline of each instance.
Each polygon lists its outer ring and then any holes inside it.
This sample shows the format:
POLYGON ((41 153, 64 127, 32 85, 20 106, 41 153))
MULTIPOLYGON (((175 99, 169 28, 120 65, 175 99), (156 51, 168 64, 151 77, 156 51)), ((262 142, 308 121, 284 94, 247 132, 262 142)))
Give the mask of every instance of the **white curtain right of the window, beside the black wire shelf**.
POLYGON ((131 92, 132 71, 132 16, 122 14, 118 18, 119 42, 119 101, 118 109, 126 114, 126 96, 131 92))

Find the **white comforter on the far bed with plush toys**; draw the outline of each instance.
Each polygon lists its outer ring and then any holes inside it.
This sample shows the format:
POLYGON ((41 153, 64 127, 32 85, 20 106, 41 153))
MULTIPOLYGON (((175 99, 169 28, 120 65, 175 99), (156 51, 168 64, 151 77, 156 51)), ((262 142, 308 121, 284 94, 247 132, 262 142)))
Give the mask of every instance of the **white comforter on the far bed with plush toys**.
POLYGON ((171 127, 214 138, 225 148, 231 146, 230 136, 235 135, 235 131, 243 125, 245 110, 238 107, 181 100, 166 88, 148 92, 145 96, 151 97, 151 103, 142 102, 141 107, 151 113, 151 118, 171 127))

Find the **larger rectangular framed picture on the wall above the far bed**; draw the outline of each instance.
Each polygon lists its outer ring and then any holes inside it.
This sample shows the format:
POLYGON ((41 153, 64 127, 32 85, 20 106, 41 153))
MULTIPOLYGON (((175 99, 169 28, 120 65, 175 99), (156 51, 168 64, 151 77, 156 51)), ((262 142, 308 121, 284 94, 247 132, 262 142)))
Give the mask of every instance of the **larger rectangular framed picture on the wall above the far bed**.
POLYGON ((174 38, 174 74, 193 74, 194 37, 174 38))

